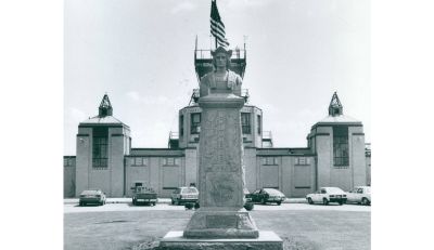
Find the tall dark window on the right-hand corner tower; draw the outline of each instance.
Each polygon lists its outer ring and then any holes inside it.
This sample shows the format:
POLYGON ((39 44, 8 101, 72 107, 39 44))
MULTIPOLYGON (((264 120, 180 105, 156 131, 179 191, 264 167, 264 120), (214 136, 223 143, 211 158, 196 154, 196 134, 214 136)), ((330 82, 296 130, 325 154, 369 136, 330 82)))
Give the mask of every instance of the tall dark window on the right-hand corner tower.
POLYGON ((348 167, 348 128, 333 127, 333 159, 335 167, 348 167))

